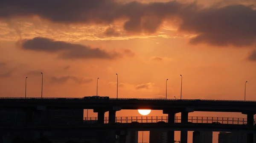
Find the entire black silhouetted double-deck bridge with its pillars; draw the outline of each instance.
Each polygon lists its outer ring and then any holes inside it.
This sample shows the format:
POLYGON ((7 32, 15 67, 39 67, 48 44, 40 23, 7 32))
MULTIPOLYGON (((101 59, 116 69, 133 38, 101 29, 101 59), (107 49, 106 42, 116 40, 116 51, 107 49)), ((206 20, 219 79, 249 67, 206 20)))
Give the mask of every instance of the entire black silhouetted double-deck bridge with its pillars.
MULTIPOLYGON (((3 97, 0 98, 0 110, 1 112, 13 110, 20 113, 19 121, 16 118, 15 122, 9 121, 6 115, 1 115, 4 119, 1 122, 3 127, 1 130, 5 133, 19 130, 23 132, 66 130, 74 133, 95 130, 94 135, 97 136, 98 143, 114 143, 116 135, 119 136, 120 143, 125 143, 125 137, 131 130, 166 130, 168 143, 173 143, 175 130, 181 131, 181 143, 187 143, 187 131, 239 131, 247 132, 247 143, 253 143, 253 133, 256 132, 253 119, 256 113, 256 101, 3 97), (82 118, 84 109, 93 109, 93 112, 98 113, 97 123, 84 125, 82 118), (121 109, 163 110, 163 113, 168 115, 168 123, 116 123, 116 111, 121 109), (188 114, 194 111, 241 112, 247 115, 247 123, 246 125, 189 123, 188 114), (108 124, 104 124, 105 112, 109 114, 108 124), (175 123, 175 114, 179 112, 181 112, 181 123, 175 123)), ((44 135, 44 132, 40 132, 40 135, 44 135)))

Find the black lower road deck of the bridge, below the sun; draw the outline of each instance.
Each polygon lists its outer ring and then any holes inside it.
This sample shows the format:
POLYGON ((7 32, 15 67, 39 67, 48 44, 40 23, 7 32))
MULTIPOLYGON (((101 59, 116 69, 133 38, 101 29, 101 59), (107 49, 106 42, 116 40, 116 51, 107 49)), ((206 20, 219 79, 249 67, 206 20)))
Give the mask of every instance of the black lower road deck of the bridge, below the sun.
POLYGON ((213 131, 213 132, 247 132, 256 133, 256 126, 212 124, 212 123, 114 123, 88 125, 61 125, 61 126, 9 126, 0 127, 4 131, 25 130, 125 130, 125 131, 213 131))

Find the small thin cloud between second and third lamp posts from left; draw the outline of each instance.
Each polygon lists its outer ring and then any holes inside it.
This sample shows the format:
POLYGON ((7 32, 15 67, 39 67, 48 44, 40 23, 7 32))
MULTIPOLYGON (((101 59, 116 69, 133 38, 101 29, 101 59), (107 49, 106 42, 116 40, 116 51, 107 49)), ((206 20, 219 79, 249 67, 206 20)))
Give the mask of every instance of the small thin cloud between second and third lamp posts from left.
POLYGON ((63 84, 66 83, 68 80, 74 81, 76 84, 87 84, 93 81, 91 78, 83 78, 77 76, 62 76, 62 77, 51 77, 52 83, 63 84))

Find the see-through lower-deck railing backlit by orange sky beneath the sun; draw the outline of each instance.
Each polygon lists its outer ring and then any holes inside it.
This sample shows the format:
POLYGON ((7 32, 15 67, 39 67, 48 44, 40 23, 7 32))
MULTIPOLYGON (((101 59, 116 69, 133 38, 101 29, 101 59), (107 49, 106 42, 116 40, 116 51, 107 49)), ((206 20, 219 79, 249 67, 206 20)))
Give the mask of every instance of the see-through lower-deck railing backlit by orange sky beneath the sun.
MULTIPOLYGON (((97 117, 88 117, 84 118, 87 122, 96 122, 98 120, 97 117)), ((139 122, 139 123, 157 123, 159 121, 164 121, 168 123, 168 116, 130 116, 130 117, 116 117, 116 122, 119 123, 131 123, 131 122, 139 122)), ((180 123, 181 117, 175 117, 175 123, 180 123)), ((224 123, 224 124, 246 124, 247 118, 233 118, 233 117, 201 117, 201 116, 189 116, 188 122, 191 123, 224 123)), ((108 123, 108 117, 105 117, 104 123, 108 123)))

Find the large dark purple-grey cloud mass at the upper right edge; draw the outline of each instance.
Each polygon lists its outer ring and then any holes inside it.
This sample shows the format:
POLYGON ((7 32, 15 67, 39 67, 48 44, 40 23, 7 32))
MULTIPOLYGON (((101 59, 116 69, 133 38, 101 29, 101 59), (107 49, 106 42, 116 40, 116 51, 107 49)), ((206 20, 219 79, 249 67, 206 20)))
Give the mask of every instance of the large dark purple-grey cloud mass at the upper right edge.
POLYGON ((253 45, 256 42, 256 11, 243 5, 208 8, 183 15, 181 31, 198 34, 192 44, 237 47, 253 45))

